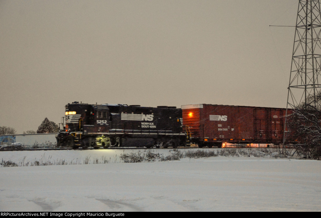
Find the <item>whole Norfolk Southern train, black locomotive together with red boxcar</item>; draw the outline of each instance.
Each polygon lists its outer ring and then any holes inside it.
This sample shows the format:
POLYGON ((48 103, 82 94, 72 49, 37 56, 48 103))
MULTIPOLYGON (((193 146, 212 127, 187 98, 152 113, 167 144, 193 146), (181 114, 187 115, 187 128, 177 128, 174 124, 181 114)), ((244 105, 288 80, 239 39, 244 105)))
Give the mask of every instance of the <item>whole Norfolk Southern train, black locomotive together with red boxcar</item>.
MULTIPOLYGON (((285 108, 208 105, 142 107, 73 102, 57 145, 72 148, 221 147, 283 140, 285 108)), ((291 113, 288 111, 288 113, 291 113)), ((296 140, 289 138, 289 143, 296 140)))

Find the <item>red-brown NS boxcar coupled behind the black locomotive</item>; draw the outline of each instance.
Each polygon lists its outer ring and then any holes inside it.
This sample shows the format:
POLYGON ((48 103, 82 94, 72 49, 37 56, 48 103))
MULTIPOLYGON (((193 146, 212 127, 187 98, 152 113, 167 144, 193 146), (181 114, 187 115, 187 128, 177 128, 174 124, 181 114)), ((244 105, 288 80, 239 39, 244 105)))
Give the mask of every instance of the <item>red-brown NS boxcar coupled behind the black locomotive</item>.
POLYGON ((283 143, 285 108, 194 104, 182 105, 182 111, 190 140, 199 147, 283 143))

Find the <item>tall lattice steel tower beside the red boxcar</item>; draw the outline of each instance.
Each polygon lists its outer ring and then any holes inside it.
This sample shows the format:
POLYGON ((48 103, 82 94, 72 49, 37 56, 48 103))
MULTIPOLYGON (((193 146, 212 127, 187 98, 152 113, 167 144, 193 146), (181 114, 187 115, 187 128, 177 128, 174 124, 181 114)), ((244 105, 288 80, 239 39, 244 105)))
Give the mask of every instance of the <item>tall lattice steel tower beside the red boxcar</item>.
MULTIPOLYGON (((319 0, 299 0, 293 43, 287 109, 316 106, 321 88, 321 12, 319 0)), ((291 116, 291 115, 290 115, 291 116)), ((286 141, 288 110, 284 125, 286 141)))

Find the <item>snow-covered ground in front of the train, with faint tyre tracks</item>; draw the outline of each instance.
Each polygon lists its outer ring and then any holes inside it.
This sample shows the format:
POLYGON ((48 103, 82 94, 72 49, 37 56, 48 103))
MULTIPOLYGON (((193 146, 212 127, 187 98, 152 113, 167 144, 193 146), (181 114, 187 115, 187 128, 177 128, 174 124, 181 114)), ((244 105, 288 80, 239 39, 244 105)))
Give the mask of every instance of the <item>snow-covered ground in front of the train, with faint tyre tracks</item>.
POLYGON ((250 155, 121 162, 121 153, 137 151, 2 151, 0 160, 20 165, 68 164, 0 167, 0 211, 321 211, 321 161, 250 155))

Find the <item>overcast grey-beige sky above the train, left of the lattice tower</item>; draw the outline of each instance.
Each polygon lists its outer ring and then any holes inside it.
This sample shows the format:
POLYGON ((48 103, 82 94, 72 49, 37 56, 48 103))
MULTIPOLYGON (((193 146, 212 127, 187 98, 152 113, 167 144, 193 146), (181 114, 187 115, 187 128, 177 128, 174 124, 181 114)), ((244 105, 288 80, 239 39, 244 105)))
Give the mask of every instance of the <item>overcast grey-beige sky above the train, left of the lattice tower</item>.
POLYGON ((298 0, 0 1, 0 126, 73 101, 286 107, 298 0))

